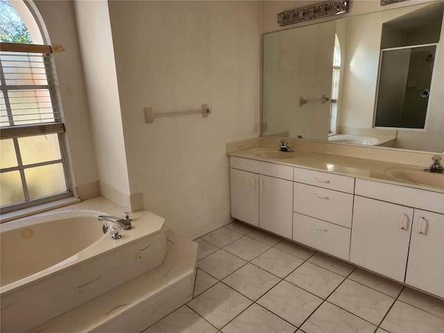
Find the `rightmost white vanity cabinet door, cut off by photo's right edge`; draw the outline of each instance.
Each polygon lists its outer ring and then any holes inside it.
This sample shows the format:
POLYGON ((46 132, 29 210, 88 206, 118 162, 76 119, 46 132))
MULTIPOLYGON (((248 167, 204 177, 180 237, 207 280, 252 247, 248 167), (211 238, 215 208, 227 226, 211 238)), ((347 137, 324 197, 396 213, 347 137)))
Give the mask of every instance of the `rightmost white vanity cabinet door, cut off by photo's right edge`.
POLYGON ((415 210, 405 283, 444 297, 444 215, 415 210))

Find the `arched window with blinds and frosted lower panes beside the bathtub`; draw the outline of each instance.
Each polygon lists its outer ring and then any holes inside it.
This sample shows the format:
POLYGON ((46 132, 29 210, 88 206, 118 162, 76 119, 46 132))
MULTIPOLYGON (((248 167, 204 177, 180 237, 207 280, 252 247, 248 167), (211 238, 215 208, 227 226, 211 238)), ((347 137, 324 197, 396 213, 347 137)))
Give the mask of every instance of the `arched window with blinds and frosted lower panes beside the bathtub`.
POLYGON ((1 0, 1 212, 71 196, 51 46, 31 44, 25 24, 10 10, 1 0))

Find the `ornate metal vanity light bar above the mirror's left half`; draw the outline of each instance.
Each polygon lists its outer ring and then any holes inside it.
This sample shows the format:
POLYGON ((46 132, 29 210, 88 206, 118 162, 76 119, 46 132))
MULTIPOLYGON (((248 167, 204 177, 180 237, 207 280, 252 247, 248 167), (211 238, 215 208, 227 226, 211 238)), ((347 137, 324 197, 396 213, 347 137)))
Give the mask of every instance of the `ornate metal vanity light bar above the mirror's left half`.
POLYGON ((349 2, 350 0, 325 1, 316 5, 280 12, 278 14, 278 23, 280 26, 287 26, 288 24, 308 21, 309 19, 344 14, 348 12, 349 2))

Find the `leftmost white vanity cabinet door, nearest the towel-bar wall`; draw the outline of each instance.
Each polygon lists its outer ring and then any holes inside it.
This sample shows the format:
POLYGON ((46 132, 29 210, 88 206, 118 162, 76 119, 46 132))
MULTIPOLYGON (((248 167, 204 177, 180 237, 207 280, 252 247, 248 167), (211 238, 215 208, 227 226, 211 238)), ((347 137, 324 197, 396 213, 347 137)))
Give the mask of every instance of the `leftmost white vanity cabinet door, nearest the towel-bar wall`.
POLYGON ((231 216, 259 227, 259 177, 230 169, 231 216))

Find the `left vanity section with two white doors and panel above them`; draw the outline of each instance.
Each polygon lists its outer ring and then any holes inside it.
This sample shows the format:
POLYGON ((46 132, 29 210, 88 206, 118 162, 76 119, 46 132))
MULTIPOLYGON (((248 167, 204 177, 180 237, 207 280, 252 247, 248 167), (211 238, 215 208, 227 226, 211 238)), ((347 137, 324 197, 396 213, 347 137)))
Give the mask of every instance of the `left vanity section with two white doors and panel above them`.
POLYGON ((293 167, 230 157, 232 217, 291 239, 293 167))

